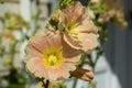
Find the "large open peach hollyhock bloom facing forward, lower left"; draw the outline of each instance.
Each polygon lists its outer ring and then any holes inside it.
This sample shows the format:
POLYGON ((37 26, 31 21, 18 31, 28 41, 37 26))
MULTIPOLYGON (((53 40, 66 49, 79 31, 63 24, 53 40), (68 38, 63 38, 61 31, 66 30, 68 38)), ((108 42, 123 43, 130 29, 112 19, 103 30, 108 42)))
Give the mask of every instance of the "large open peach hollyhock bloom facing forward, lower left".
POLYGON ((65 43, 58 31, 33 36, 25 54, 28 70, 53 82, 67 79, 80 59, 80 52, 65 43))

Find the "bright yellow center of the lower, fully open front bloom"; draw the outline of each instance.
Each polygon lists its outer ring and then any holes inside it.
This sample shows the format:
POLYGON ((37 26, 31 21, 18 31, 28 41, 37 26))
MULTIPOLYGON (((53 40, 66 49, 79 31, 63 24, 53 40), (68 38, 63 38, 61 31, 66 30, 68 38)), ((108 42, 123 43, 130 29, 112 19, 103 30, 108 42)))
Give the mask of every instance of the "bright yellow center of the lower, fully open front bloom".
POLYGON ((47 67, 57 67, 63 62, 63 54, 58 48, 50 48, 43 53, 43 62, 47 67))

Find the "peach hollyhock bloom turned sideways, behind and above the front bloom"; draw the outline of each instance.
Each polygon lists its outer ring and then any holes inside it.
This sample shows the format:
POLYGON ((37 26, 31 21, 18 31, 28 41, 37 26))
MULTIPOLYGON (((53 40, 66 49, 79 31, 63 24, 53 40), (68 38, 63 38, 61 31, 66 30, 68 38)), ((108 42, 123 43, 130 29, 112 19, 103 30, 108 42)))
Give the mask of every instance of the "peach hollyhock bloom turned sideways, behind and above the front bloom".
POLYGON ((97 46, 97 28, 80 2, 72 3, 64 11, 59 11, 59 15, 61 22, 66 28, 64 40, 67 44, 87 53, 97 46))

